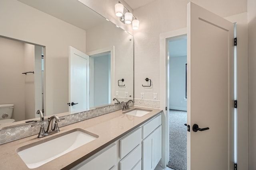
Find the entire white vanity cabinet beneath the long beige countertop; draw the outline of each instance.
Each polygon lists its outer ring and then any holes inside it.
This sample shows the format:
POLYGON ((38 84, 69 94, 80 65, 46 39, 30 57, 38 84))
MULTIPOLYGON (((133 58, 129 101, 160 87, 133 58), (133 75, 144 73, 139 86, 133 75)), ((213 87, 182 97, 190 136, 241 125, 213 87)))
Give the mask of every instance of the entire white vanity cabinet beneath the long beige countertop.
POLYGON ((72 170, 154 170, 162 153, 161 114, 72 170))

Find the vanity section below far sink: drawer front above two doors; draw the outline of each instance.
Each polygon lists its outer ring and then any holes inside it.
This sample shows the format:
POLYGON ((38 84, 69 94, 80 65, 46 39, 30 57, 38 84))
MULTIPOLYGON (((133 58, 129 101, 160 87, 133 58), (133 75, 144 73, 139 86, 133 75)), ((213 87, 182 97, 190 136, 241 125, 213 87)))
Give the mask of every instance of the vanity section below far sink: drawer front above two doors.
POLYGON ((142 170, 154 170, 162 154, 161 115, 142 125, 142 130, 142 170))

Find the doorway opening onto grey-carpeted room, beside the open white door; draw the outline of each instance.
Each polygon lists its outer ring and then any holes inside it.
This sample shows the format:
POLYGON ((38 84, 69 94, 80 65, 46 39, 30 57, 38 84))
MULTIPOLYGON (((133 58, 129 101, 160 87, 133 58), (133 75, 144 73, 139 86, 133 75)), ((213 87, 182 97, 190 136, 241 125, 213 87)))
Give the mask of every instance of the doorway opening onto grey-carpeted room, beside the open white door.
POLYGON ((187 36, 167 39, 169 162, 174 170, 187 169, 187 36))

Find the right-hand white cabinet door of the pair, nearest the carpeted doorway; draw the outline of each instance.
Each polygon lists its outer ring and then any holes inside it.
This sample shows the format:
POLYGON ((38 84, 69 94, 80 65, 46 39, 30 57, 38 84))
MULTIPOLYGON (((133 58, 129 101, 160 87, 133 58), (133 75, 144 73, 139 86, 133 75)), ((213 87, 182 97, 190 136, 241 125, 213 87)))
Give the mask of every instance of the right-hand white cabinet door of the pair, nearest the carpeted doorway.
POLYGON ((162 157, 162 126, 159 126, 153 132, 153 149, 153 162, 154 168, 156 168, 156 165, 162 157))

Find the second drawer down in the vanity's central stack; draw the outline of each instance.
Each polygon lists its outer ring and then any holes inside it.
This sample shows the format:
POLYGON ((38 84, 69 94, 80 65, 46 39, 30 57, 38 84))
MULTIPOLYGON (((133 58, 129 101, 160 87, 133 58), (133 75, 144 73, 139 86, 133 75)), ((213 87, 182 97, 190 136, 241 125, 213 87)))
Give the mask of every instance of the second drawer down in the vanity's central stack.
POLYGON ((142 146, 139 145, 119 162, 119 170, 131 170, 141 160, 142 146))

